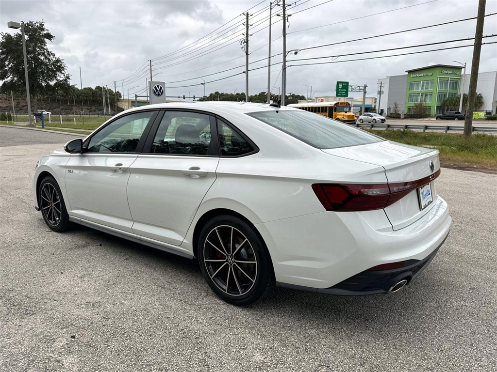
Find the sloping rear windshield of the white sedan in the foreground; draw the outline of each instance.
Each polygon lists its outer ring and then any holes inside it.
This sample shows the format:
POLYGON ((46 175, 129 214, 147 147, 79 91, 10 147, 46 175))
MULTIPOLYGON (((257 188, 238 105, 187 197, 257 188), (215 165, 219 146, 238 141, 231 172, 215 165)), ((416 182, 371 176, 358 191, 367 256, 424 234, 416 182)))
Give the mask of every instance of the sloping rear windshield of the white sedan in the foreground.
POLYGON ((365 145, 383 138, 303 110, 260 111, 248 114, 319 149, 365 145))

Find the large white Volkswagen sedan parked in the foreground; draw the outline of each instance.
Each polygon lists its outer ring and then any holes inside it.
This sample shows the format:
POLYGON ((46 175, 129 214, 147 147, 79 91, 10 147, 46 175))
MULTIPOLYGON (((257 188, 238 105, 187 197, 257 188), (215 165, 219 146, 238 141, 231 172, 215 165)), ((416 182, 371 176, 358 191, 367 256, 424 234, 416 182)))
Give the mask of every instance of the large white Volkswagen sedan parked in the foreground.
POLYGON ((36 209, 197 259, 223 300, 396 292, 451 224, 438 151, 277 104, 150 105, 42 157, 36 209))

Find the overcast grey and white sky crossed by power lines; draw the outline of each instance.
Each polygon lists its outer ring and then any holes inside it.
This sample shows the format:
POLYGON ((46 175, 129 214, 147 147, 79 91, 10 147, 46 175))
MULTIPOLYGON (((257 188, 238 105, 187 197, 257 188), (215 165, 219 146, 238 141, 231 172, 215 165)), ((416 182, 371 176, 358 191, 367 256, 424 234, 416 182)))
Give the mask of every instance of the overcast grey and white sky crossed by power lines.
MULTIPOLYGON (((279 3, 281 4, 281 0, 279 3)), ((471 45, 476 20, 347 42, 386 33, 476 17, 478 0, 287 0, 287 94, 334 95, 337 80, 368 85, 379 78, 430 64, 468 62, 473 47, 389 58, 397 54, 471 45), (369 54, 363 52, 453 41, 369 54), (347 42, 336 44, 340 42, 347 42), (319 47, 335 44, 328 47, 319 47), (312 49, 306 49, 312 48, 312 49), (309 60, 311 58, 328 57, 309 60), (347 62, 369 58, 368 60, 347 62), (300 61, 297 61, 300 60, 300 61), (326 64, 309 64, 332 62, 326 64), (300 65, 299 65, 300 64, 300 65), (308 65, 302 65, 308 64, 308 65), (306 86, 307 85, 307 86, 306 86), (310 94, 310 93, 309 93, 310 94)), ((274 3, 274 1, 273 1, 274 3)), ((267 89, 269 0, 0 0, 0 32, 8 21, 44 20, 56 37, 49 48, 67 64, 72 84, 108 85, 124 96, 144 91, 152 60, 154 80, 166 82, 168 96, 214 91, 245 92, 245 53, 240 41, 249 18, 249 94, 267 89), (262 61, 259 61, 262 60, 262 61), (259 61, 259 62, 257 62, 259 61), (217 80, 217 81, 214 81, 217 80)), ((486 14, 497 12, 487 0, 486 14)), ((281 87, 281 6, 272 10, 271 86, 281 87)), ((497 34, 497 15, 486 17, 484 35, 497 34)), ((497 37, 485 38, 495 42, 497 37)), ((480 72, 497 69, 497 44, 484 45, 480 72)), ((362 96, 361 93, 351 94, 362 96)))

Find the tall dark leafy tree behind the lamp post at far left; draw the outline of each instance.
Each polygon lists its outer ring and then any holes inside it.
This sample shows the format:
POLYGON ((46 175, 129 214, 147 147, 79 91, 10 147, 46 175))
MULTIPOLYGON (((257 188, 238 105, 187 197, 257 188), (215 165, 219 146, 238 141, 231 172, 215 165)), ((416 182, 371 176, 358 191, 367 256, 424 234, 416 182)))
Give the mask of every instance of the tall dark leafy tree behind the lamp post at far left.
MULTIPOLYGON (((26 55, 29 70, 29 92, 38 97, 51 90, 56 83, 69 85, 70 75, 63 60, 56 57, 47 47, 47 41, 55 36, 46 28, 43 21, 29 21, 24 24, 26 55)), ((0 33, 0 93, 10 90, 25 92, 24 58, 21 32, 0 33)))

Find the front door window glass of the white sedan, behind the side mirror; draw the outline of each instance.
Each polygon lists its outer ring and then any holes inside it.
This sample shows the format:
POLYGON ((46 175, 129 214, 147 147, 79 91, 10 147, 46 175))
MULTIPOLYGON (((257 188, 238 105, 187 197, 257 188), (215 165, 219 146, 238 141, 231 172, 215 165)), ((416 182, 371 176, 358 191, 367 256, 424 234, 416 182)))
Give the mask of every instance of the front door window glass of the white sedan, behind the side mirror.
POLYGON ((85 152, 136 152, 153 111, 123 116, 91 137, 85 152))

